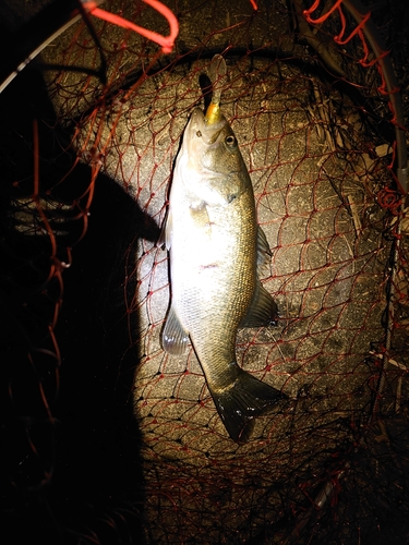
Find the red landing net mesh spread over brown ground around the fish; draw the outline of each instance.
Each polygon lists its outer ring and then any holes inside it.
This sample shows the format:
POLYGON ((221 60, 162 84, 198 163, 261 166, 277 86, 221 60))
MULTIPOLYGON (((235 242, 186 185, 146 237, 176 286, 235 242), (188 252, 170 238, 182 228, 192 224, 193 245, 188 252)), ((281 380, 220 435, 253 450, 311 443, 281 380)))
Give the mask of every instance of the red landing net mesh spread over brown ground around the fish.
MULTIPOLYGON (((93 19, 98 44, 80 21, 37 62, 49 68, 37 101, 24 85, 36 70, 1 97, 13 128, 1 145, 15 520, 23 512, 67 543, 407 538, 409 228, 396 111, 350 11, 317 4, 322 20, 308 23, 301 0, 258 2, 256 14, 248 1, 169 3, 180 24, 170 56, 93 19), (216 52, 272 250, 262 283, 280 312, 275 328, 239 330, 237 360, 289 397, 244 445, 227 436, 193 349, 177 358, 160 344, 170 287, 157 240, 216 52), (105 64, 106 84, 91 72, 105 64), (38 101, 48 109, 32 123, 38 101)), ((167 33, 143 3, 104 8, 167 33)), ((394 41, 407 114, 405 16, 386 0, 373 10, 394 41)))

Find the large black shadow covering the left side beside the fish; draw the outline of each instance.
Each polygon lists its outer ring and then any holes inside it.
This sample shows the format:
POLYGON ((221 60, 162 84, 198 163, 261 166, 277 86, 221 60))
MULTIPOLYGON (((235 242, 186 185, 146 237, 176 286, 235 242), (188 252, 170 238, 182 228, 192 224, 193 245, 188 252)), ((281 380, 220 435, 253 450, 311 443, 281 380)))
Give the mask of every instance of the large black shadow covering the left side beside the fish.
MULTIPOLYGON (((87 231, 62 275, 56 374, 48 325, 60 290, 55 279, 39 282, 49 269, 50 239, 16 231, 10 210, 19 192, 29 195, 33 186, 34 118, 41 120, 44 187, 67 175, 75 157, 58 144, 57 120, 36 72, 24 71, 0 95, 0 118, 3 535, 13 544, 143 544, 141 437, 132 402, 139 319, 125 302, 136 288, 137 239, 156 241, 159 228, 117 183, 98 177, 87 231)), ((89 168, 77 165, 56 194, 73 202, 89 181, 89 168)), ((64 255, 82 220, 67 225, 69 233, 56 237, 64 255)))

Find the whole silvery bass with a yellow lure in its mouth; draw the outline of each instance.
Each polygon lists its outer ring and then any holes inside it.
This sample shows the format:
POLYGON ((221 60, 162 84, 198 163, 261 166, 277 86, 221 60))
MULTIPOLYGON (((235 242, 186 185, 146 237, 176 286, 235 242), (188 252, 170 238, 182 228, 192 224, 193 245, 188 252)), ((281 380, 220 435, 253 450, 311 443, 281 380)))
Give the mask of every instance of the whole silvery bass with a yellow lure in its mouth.
MULTIPOLYGON (((222 81, 226 64, 217 57, 222 81)), ((193 346, 229 436, 245 443, 254 419, 286 396, 237 363, 238 329, 275 324, 278 311, 258 278, 270 251, 219 101, 214 92, 205 113, 193 110, 175 161, 164 228, 171 301, 161 344, 171 355, 193 346)))

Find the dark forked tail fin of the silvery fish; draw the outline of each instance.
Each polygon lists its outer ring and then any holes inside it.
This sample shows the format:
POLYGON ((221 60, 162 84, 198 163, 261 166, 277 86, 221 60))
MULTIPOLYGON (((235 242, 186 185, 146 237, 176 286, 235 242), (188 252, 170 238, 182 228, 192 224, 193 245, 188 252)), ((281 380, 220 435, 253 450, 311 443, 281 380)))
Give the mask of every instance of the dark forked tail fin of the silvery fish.
POLYGON ((221 392, 209 389, 230 437, 237 443, 245 443, 253 429, 254 419, 287 396, 239 366, 237 370, 237 378, 229 389, 221 392))

